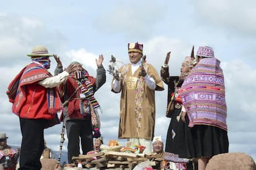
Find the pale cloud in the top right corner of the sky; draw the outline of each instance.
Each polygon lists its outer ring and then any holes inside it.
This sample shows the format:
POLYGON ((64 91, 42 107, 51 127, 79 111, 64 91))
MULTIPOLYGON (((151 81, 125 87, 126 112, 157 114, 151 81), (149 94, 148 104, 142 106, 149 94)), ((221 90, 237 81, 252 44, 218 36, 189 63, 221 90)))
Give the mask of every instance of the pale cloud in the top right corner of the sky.
POLYGON ((194 3, 195 12, 200 23, 223 27, 244 35, 255 34, 256 2, 255 1, 202 1, 194 3))

